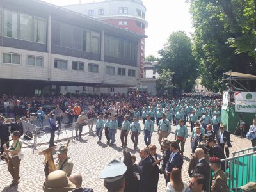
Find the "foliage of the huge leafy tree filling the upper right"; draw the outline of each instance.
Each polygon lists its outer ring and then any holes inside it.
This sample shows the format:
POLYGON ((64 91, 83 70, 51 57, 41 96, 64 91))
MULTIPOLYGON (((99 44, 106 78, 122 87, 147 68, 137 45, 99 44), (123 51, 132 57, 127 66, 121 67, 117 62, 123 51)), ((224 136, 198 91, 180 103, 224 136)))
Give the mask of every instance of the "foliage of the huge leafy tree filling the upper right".
POLYGON ((193 54, 209 90, 221 90, 223 72, 256 74, 255 12, 255 0, 192 1, 193 54))

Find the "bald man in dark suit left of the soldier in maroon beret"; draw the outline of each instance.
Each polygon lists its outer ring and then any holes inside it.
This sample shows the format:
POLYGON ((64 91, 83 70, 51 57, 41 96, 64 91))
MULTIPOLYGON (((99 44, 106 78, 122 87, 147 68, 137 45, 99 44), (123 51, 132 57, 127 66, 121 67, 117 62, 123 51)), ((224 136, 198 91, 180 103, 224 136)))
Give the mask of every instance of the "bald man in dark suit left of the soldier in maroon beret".
POLYGON ((195 156, 196 159, 198 159, 198 163, 196 164, 193 174, 198 173, 203 175, 205 178, 205 184, 203 189, 205 191, 210 191, 211 168, 209 166, 209 163, 205 160, 204 150, 202 150, 202 148, 196 148, 195 156))

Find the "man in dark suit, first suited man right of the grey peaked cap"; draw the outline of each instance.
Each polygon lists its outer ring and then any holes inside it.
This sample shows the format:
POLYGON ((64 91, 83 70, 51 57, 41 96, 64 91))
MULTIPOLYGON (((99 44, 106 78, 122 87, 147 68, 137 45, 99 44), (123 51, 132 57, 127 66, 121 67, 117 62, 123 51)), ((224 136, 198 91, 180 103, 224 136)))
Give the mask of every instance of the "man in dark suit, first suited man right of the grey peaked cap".
POLYGON ((142 179, 142 192, 150 192, 152 187, 152 171, 153 171, 153 164, 148 156, 147 148, 142 148, 140 150, 140 157, 141 161, 139 166, 142 169, 143 179, 142 179))

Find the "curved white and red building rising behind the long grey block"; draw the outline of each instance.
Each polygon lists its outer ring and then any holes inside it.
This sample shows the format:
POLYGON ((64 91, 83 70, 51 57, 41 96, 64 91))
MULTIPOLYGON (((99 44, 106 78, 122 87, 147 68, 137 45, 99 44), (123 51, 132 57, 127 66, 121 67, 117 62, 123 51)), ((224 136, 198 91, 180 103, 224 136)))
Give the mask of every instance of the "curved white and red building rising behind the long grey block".
MULTIPOLYGON (((145 28, 148 22, 145 20, 146 8, 141 0, 105 0, 94 3, 75 4, 65 6, 65 8, 73 10, 90 17, 94 17, 103 22, 134 31, 145 35, 145 28)), ((121 44, 119 42, 119 44, 121 44)), ((126 44, 124 46, 127 46, 126 44)), ((145 57, 145 40, 141 39, 138 43, 140 50, 140 78, 145 77, 143 61, 145 57)))

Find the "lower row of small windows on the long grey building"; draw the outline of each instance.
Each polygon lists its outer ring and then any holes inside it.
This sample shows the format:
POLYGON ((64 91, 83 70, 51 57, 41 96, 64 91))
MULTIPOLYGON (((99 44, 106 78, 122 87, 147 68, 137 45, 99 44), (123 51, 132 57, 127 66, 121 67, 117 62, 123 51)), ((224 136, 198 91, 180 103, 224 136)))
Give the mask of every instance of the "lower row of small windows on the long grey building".
MULTIPOLYGON (((9 52, 3 52, 3 63, 9 64, 21 64, 21 56, 20 54, 14 54, 9 52)), ((36 66, 36 67, 43 67, 43 58, 40 56, 27 56, 27 65, 29 66, 36 66)), ((67 60, 54 60, 54 68, 59 69, 68 69, 68 61, 67 60)), ((72 61, 72 70, 80 70, 84 71, 84 63, 80 61, 72 61)), ((98 73, 99 72, 99 65, 88 63, 88 72, 98 73)), ((115 75, 115 67, 107 66, 106 67, 106 74, 108 75, 115 75)), ((126 75, 125 68, 117 68, 117 74, 119 76, 126 75)), ((135 70, 129 69, 128 76, 135 77, 135 70)))

